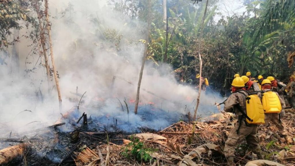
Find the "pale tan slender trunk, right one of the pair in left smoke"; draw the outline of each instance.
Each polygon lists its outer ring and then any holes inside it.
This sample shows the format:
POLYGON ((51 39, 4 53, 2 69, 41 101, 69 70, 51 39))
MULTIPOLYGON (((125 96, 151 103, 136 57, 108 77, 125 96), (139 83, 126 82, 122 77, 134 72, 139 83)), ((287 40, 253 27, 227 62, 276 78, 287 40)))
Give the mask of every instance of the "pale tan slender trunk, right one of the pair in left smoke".
POLYGON ((46 16, 46 22, 47 22, 47 31, 48 31, 48 38, 49 38, 49 45, 50 45, 50 57, 51 57, 51 63, 53 67, 53 75, 56 83, 56 89, 58 93, 58 101, 59 101, 59 110, 62 110, 62 101, 61 101, 61 94, 60 94, 60 88, 59 88, 59 82, 57 77, 57 72, 54 65, 54 56, 53 56, 53 47, 52 47, 52 39, 51 39, 51 30, 50 30, 50 21, 49 21, 49 14, 48 14, 48 0, 45 0, 45 16, 46 16))

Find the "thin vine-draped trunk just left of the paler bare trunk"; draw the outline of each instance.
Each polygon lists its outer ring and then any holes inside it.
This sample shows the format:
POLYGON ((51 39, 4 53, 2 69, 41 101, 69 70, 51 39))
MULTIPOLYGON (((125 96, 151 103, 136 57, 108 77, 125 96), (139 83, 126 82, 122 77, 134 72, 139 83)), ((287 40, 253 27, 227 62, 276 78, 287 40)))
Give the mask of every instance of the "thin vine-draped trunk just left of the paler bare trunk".
POLYGON ((40 27, 40 30, 41 30, 40 39, 41 39, 41 45, 42 45, 44 59, 45 59, 45 68, 46 68, 47 84, 48 84, 48 95, 50 95, 51 94, 50 71, 49 71, 47 50, 46 50, 46 47, 45 47, 45 33, 44 33, 43 24, 42 24, 42 21, 41 21, 42 15, 40 13, 40 6, 38 4, 38 1, 35 1, 35 7, 36 7, 38 20, 39 20, 39 27, 40 27))

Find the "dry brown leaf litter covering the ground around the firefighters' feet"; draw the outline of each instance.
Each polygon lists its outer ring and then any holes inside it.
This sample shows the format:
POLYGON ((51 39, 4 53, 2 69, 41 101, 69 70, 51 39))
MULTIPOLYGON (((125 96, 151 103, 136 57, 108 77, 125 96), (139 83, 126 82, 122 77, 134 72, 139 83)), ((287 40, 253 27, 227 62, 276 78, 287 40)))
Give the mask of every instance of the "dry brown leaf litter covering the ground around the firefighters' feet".
MULTIPOLYGON (((289 135, 294 138, 295 135, 295 114, 293 110, 286 111, 286 117, 284 123, 286 123, 287 131, 289 135)), ((157 149, 157 152, 151 154, 154 158, 149 163, 137 162, 135 160, 127 160, 122 156, 122 151, 126 147, 126 144, 115 146, 114 144, 107 144, 97 146, 101 149, 101 155, 103 160, 108 161, 108 165, 111 166, 127 166, 127 165, 181 165, 181 166, 200 166, 200 165, 225 165, 226 159, 223 156, 222 149, 224 148, 224 142, 227 139, 230 130, 234 127, 235 121, 232 119, 232 114, 221 113, 215 114, 207 118, 209 121, 186 123, 175 123, 158 133, 153 134, 137 134, 136 137, 140 138, 145 143, 146 147, 157 149), (194 133, 194 134, 193 134, 194 133), (157 142, 157 141, 160 141, 157 142), (189 142, 191 141, 191 144, 189 142)), ((259 131, 260 144, 263 149, 267 160, 278 162, 286 166, 295 165, 295 148, 292 145, 286 145, 285 141, 278 134, 277 129, 273 124, 268 128, 259 131), (269 149, 266 147, 272 140, 276 140, 269 149)), ((123 140, 125 143, 129 141, 123 140)), ((106 162, 100 162, 101 159, 99 152, 96 150, 96 145, 91 150, 87 148, 88 162, 86 159, 81 159, 81 153, 75 152, 73 154, 77 166, 86 165, 106 165, 106 162), (89 152, 91 150, 91 152, 89 152), (93 154, 94 153, 94 154, 93 154)), ((261 165, 266 162, 265 160, 256 160, 257 156, 247 148, 247 144, 242 144, 237 148, 235 154, 235 162, 237 165, 245 165, 251 160, 248 165, 261 165)), ((85 157, 85 156, 83 156, 85 157)), ((271 162, 270 162, 271 163, 271 162)))

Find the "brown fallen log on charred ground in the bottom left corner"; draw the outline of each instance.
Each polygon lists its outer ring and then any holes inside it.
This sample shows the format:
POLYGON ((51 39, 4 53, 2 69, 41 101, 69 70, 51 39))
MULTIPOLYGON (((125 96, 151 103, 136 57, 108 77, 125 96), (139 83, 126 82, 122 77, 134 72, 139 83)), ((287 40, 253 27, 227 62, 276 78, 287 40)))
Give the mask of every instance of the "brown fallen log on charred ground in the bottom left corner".
POLYGON ((14 158, 22 155, 24 150, 28 147, 28 143, 18 144, 12 147, 8 147, 0 150, 0 165, 12 161, 14 158))

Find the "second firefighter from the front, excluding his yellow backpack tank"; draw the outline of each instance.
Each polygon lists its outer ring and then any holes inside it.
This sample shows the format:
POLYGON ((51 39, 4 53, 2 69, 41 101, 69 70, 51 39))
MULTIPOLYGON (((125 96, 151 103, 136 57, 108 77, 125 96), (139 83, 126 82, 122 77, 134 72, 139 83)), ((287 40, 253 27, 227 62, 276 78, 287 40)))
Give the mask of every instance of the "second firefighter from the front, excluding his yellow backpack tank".
MULTIPOLYGON (((268 79, 264 79, 261 83, 262 85, 262 91, 267 92, 271 91, 271 81, 268 79)), ((292 137, 288 135, 285 124, 281 121, 281 116, 283 117, 285 115, 284 108, 286 107, 285 101, 278 95, 277 92, 276 95, 278 96, 279 102, 281 103, 282 111, 281 113, 265 113, 265 124, 263 126, 267 126, 269 122, 272 122, 274 125, 276 125, 276 128, 278 128, 278 132, 285 138, 286 142, 288 144, 292 144, 293 140, 292 137)), ((273 100, 273 99, 272 99, 273 100)), ((274 101, 272 101, 274 102, 274 101)))

